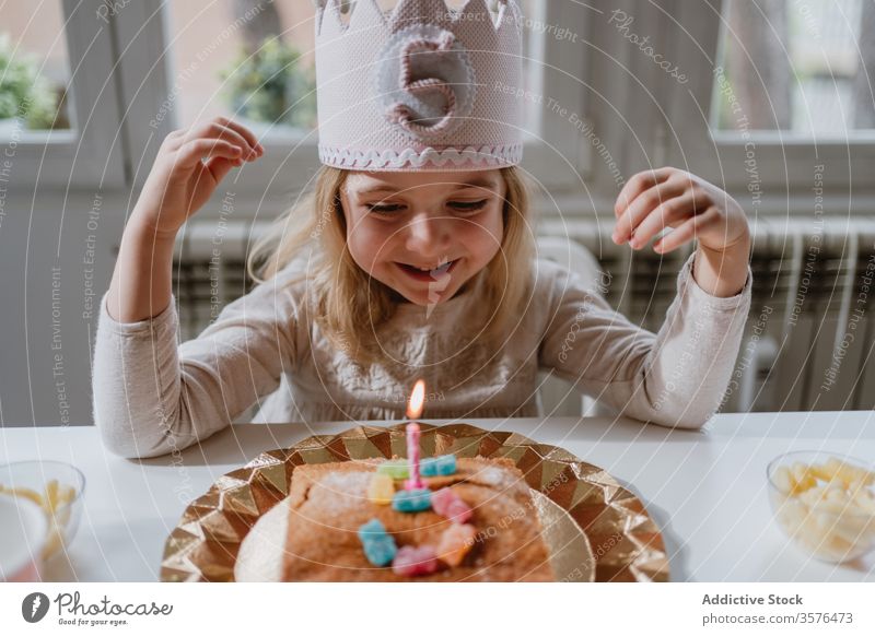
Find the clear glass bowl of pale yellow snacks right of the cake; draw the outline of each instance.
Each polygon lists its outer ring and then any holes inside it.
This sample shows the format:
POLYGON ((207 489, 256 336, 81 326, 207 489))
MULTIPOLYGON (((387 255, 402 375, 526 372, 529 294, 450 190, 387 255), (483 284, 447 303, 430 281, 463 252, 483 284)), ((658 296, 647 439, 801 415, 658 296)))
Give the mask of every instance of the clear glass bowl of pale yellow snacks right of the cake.
POLYGON ((853 457, 801 450, 773 459, 766 476, 769 502, 781 530, 815 558, 843 563, 875 550, 875 486, 872 480, 826 481, 824 478, 831 474, 827 468, 830 460, 875 474, 872 466, 853 457), (809 467, 824 470, 806 471, 809 467), (790 481, 782 469, 788 469, 790 481))

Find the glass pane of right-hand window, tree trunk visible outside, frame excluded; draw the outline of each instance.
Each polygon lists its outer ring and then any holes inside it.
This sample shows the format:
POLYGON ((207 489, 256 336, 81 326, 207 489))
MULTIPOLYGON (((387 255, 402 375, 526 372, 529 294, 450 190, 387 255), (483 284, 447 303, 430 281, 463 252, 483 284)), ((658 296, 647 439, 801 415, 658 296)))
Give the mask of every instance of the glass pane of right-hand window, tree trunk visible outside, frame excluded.
POLYGON ((872 2, 727 2, 721 40, 715 130, 738 128, 733 110, 752 130, 843 138, 875 128, 872 2))

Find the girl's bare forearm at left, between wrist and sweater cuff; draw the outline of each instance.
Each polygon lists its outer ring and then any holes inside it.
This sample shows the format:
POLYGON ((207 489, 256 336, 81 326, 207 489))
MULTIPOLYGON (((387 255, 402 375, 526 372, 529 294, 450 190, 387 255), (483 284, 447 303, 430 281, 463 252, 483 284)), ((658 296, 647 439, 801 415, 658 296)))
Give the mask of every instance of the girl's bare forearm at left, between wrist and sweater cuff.
POLYGON ((106 308, 119 322, 153 318, 171 303, 174 236, 158 235, 136 215, 125 228, 106 308))

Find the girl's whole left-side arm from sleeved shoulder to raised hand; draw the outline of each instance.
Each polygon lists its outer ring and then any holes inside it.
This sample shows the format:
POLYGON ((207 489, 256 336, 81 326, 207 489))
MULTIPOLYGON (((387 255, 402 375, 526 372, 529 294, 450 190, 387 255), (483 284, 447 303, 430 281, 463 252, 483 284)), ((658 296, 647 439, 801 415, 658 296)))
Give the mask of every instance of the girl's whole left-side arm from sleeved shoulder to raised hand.
POLYGON ((118 455, 176 452, 223 428, 273 390, 294 357, 295 302, 276 280, 177 348, 174 237, 242 157, 260 152, 252 133, 223 120, 174 132, 162 144, 101 303, 94 420, 118 455))

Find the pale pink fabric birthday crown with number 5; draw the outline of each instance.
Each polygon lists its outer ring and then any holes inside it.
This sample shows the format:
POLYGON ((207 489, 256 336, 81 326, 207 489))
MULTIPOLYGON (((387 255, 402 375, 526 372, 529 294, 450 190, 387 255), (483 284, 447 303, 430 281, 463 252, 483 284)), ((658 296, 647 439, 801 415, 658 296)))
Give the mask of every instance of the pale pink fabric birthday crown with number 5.
POLYGON ((399 0, 384 13, 316 0, 319 160, 355 170, 477 170, 523 157, 523 16, 516 0, 458 10, 399 0))

